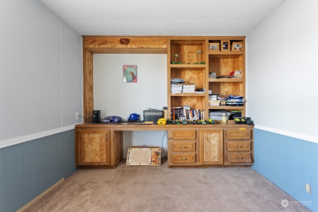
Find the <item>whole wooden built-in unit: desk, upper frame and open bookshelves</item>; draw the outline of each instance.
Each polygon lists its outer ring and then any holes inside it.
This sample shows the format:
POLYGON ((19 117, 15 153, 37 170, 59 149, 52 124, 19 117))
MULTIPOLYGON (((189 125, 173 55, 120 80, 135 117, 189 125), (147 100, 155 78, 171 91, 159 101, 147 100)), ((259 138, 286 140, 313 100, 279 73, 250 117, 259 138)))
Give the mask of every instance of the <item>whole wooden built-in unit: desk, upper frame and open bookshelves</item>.
MULTIPOLYGON (((238 106, 209 105, 209 90, 219 96, 239 95, 245 98, 245 37, 230 36, 172 36, 127 37, 130 44, 120 44, 118 36, 83 36, 83 115, 89 117, 93 110, 93 54, 141 53, 167 54, 167 111, 170 120, 176 120, 172 108, 189 106, 200 113, 200 119, 208 120, 210 110, 241 111, 238 106), (212 45, 217 49, 211 48, 212 45), (239 45, 240 48, 236 48, 239 45), (239 70, 241 77, 228 76, 239 70), (209 77, 214 72, 217 78, 209 77), (174 92, 170 81, 184 79, 186 84, 196 85, 195 90, 205 92, 174 92), (203 113, 204 112, 204 113, 203 113), (203 115, 204 114, 204 115, 203 115)), ((182 112, 183 108, 182 108, 182 112)), ((192 111, 193 112, 193 111, 192 111)), ((193 115, 193 114, 192 114, 193 115)), ((179 117, 190 118, 185 114, 179 117)), ((253 127, 235 125, 182 125, 168 126, 76 126, 76 165, 115 168, 123 156, 122 131, 164 130, 168 132, 168 166, 191 165, 252 165, 253 127), (246 128, 246 130, 242 130, 246 128)))

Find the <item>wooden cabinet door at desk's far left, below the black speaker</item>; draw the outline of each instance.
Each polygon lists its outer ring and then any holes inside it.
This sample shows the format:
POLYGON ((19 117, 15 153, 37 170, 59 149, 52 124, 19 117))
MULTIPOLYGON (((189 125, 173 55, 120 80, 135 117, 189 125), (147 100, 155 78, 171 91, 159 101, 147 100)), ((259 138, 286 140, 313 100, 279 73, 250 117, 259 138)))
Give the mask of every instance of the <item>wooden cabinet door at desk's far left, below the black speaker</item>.
POLYGON ((110 165, 110 131, 77 131, 77 166, 110 165))

